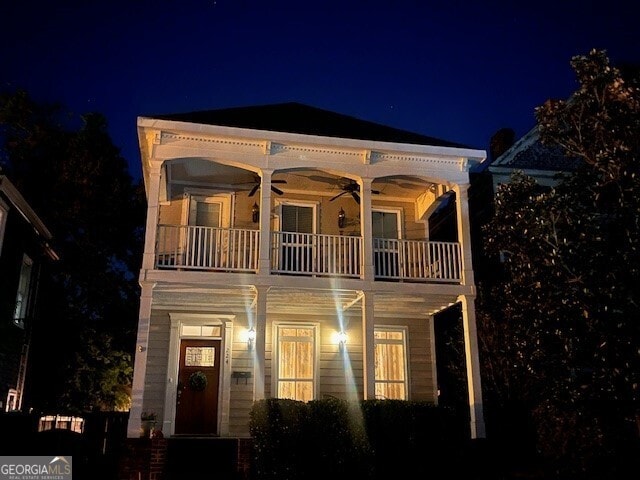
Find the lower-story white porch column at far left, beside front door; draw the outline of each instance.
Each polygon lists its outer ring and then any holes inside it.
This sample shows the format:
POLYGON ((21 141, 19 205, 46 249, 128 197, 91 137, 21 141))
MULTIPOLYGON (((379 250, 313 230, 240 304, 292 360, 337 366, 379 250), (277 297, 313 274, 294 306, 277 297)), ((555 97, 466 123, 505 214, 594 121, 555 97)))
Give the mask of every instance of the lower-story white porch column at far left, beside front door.
MULTIPOLYGON (((154 226, 155 228, 155 226, 154 226)), ((133 382, 131 386, 131 409, 127 437, 140 436, 140 415, 144 400, 144 379, 147 374, 147 349, 149 347, 149 326, 151 324, 151 300, 155 283, 140 282, 140 312, 138 317, 138 337, 136 339, 135 360, 133 364, 133 382)))

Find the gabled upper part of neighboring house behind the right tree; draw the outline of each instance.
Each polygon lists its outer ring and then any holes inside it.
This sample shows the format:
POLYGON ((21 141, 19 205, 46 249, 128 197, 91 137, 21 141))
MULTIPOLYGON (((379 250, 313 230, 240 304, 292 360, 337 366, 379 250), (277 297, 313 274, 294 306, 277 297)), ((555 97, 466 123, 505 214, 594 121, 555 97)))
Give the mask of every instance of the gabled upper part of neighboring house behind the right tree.
POLYGON ((534 127, 492 161, 488 169, 495 191, 499 184, 508 183, 516 171, 535 178, 541 187, 552 187, 580 163, 577 158, 567 157, 560 146, 543 145, 538 128, 534 127))

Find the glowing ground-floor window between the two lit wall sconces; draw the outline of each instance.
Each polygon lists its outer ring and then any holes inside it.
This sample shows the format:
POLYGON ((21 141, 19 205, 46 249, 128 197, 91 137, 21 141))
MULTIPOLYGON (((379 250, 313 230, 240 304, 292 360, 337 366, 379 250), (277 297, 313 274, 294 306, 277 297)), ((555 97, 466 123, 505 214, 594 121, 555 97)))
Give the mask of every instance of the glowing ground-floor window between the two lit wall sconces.
POLYGON ((313 325, 276 325, 276 392, 278 398, 308 402, 315 397, 313 325))

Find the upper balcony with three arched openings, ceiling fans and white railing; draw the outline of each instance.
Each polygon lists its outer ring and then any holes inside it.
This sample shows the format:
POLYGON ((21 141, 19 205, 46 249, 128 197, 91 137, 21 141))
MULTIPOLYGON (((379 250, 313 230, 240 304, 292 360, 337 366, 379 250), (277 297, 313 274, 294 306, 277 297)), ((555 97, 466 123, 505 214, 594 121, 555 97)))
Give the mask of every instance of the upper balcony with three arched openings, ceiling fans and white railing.
POLYGON ((362 193, 354 180, 297 169, 275 173, 265 195, 240 168, 194 159, 166 168, 157 269, 365 279, 368 264, 376 281, 463 282, 456 199, 443 184, 389 176, 362 193))

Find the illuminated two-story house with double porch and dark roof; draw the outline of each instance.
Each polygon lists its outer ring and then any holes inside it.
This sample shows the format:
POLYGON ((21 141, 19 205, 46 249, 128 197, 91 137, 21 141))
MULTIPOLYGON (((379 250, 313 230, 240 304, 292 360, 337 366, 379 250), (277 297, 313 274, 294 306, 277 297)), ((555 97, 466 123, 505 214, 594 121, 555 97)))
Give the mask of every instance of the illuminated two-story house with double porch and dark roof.
POLYGON ((140 117, 138 136, 129 437, 142 412, 166 437, 246 437, 267 397, 437 403, 452 305, 484 437, 467 190, 485 151, 297 103, 140 117), (432 237, 443 208, 453 228, 432 237))

